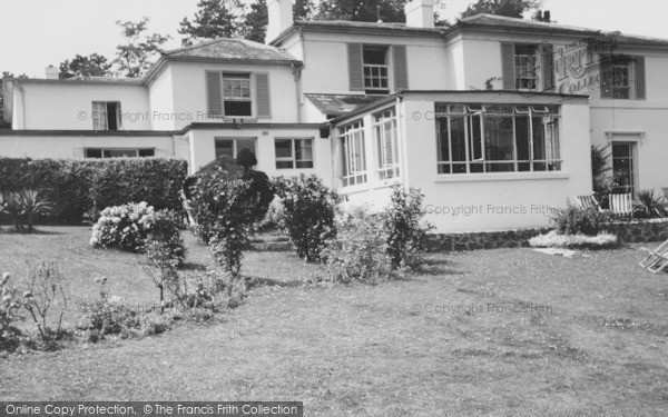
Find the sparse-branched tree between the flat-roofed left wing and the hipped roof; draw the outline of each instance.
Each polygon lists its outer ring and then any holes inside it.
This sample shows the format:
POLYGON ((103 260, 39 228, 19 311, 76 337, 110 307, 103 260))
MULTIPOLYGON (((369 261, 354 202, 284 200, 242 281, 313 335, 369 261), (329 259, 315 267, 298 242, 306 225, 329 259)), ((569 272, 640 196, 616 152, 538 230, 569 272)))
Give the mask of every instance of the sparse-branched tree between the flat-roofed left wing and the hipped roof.
POLYGON ((128 78, 143 77, 160 53, 160 47, 170 39, 169 36, 146 33, 148 22, 148 18, 138 22, 116 21, 127 40, 127 44, 116 47, 118 51, 114 61, 117 66, 116 75, 128 78))

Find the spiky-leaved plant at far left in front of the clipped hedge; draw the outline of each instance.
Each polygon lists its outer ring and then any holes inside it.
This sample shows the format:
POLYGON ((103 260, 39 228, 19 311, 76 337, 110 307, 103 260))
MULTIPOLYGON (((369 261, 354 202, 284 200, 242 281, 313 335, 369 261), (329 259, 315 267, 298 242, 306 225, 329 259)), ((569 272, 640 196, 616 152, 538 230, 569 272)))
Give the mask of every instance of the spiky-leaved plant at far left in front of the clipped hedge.
POLYGON ((0 212, 9 215, 19 232, 32 231, 36 217, 48 215, 52 207, 37 190, 0 191, 0 212))

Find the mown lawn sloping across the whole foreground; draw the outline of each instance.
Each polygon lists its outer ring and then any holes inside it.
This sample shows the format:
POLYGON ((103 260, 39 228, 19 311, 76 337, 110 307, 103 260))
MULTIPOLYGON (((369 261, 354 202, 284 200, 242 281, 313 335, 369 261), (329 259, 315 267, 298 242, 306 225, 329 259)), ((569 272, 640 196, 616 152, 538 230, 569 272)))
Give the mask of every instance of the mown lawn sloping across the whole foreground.
MULTIPOLYGON (((85 228, 43 231, 0 235, 0 269, 20 278, 26 259, 48 255, 76 300, 96 297, 101 275, 128 301, 155 299, 134 256, 88 248, 85 228)), ((206 250, 189 248, 202 268, 206 250)), ((248 252, 256 286, 224 322, 4 359, 0 398, 303 400, 307 416, 666 415, 667 276, 640 269, 635 247, 588 255, 430 256, 404 280, 330 287, 302 285, 317 268, 291 254, 248 252)))

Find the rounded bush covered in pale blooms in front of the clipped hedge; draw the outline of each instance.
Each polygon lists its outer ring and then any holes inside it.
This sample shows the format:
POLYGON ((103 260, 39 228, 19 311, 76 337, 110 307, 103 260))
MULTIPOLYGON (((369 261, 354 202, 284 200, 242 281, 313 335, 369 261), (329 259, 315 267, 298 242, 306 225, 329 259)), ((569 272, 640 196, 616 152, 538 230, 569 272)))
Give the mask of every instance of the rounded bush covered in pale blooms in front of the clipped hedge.
POLYGON ((156 211, 146 201, 107 207, 92 226, 90 245, 137 252, 155 222, 156 211))

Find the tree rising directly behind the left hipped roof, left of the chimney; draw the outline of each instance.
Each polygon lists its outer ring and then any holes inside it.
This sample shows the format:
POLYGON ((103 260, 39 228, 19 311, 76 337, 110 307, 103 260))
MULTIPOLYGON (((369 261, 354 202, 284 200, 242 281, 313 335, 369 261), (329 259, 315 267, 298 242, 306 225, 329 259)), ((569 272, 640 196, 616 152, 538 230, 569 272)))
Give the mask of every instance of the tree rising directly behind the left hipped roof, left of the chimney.
MULTIPOLYGON (((239 0, 200 0, 197 12, 190 21, 181 20, 178 32, 186 38, 184 46, 216 38, 233 38, 243 29, 243 6, 239 0)), ((266 3, 265 3, 266 10, 266 3)))

